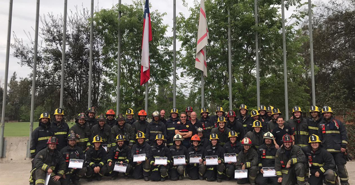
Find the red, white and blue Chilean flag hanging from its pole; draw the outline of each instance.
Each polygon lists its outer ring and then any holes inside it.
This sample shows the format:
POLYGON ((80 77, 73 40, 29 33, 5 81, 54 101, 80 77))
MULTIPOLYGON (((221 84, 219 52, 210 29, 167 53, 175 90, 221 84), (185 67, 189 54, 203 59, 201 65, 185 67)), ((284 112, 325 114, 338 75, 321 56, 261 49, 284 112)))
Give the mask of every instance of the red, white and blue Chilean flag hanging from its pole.
POLYGON ((149 0, 145 0, 143 16, 142 59, 141 59, 141 86, 150 78, 149 42, 152 41, 149 0))

